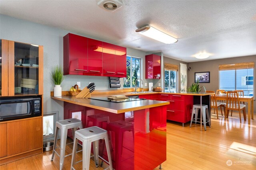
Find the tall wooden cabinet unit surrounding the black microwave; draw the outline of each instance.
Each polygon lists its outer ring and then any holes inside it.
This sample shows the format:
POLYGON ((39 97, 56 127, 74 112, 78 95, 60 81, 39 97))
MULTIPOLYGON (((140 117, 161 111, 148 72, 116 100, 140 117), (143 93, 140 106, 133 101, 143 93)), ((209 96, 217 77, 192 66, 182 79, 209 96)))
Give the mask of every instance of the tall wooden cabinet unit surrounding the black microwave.
MULTIPOLYGON (((43 113, 43 46, 0 40, 0 100, 38 96, 43 113)), ((0 122, 0 164, 43 152, 42 117, 0 122)))

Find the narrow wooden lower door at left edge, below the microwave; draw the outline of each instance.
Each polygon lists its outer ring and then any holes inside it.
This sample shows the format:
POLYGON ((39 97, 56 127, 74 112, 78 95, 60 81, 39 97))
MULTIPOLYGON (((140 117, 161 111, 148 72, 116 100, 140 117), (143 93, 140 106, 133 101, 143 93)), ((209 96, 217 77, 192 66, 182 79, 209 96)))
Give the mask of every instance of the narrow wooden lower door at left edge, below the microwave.
POLYGON ((0 158, 7 156, 7 123, 0 124, 0 158))

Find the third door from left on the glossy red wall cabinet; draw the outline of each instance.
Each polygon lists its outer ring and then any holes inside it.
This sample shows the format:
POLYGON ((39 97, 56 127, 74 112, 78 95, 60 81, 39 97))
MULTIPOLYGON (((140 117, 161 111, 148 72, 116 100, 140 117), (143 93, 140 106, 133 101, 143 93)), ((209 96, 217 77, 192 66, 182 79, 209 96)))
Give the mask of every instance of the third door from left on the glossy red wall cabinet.
POLYGON ((103 42, 103 74, 116 74, 116 45, 103 42))

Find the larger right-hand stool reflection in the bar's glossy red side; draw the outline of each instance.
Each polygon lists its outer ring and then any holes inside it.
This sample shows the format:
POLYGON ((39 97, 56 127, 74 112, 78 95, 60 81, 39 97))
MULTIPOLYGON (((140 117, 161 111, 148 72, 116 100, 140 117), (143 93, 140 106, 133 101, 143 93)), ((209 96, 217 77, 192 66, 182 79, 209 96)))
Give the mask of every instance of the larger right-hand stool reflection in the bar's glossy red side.
MULTIPOLYGON (((132 132, 133 141, 134 141, 134 125, 126 121, 116 121, 107 124, 107 130, 113 131, 115 134, 115 169, 120 170, 120 162, 123 150, 123 135, 124 132, 132 132)), ((113 144, 112 144, 113 145, 113 144)))

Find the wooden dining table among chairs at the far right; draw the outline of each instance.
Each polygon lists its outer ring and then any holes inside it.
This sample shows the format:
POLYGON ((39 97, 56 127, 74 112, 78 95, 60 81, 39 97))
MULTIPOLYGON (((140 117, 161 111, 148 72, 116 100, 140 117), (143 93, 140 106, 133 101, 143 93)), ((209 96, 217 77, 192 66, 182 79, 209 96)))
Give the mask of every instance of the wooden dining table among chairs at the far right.
MULTIPOLYGON (((226 96, 215 95, 217 100, 226 101, 226 96)), ((253 96, 239 96, 239 101, 247 102, 248 103, 248 125, 251 124, 251 117, 253 119, 253 96), (252 115, 252 116, 251 116, 252 115)), ((226 120, 226 117, 225 117, 226 120)))

